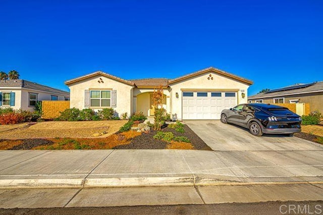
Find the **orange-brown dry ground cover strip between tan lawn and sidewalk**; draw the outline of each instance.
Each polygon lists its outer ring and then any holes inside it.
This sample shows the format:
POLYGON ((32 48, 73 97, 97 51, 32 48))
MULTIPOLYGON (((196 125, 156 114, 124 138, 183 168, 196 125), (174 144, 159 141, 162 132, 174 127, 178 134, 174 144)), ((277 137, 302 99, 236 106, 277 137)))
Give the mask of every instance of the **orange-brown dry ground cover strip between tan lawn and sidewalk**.
MULTIPOLYGON (((51 138, 52 145, 36 146, 32 149, 68 150, 68 149, 112 149, 117 145, 129 144, 133 137, 141 133, 127 131, 106 138, 51 138)), ((14 141, 14 140, 13 140, 14 141)))

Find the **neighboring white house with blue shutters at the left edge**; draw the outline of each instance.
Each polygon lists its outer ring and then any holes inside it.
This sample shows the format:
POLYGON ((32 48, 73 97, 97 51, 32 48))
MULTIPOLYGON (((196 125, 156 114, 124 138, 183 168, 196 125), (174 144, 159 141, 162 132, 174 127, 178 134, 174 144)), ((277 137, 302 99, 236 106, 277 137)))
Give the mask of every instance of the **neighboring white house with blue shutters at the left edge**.
POLYGON ((67 91, 47 87, 26 80, 0 81, 0 107, 34 111, 37 101, 69 100, 67 91))

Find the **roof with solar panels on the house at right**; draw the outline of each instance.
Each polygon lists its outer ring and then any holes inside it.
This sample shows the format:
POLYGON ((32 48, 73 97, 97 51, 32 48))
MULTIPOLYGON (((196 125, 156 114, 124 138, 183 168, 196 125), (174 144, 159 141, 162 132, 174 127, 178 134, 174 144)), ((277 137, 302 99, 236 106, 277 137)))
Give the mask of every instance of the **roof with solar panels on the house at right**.
POLYGON ((293 86, 282 87, 268 92, 262 92, 248 96, 248 99, 276 97, 284 95, 297 95, 311 92, 323 92, 323 81, 313 82, 310 84, 296 84, 293 86))

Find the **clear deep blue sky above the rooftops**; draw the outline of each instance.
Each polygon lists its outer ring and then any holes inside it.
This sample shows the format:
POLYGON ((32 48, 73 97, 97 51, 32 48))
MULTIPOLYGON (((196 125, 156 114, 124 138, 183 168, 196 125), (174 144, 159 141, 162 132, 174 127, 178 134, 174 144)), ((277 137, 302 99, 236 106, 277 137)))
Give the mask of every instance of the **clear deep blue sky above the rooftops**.
POLYGON ((0 0, 0 71, 68 90, 102 70, 175 78, 210 66, 263 88, 323 81, 323 1, 0 0))

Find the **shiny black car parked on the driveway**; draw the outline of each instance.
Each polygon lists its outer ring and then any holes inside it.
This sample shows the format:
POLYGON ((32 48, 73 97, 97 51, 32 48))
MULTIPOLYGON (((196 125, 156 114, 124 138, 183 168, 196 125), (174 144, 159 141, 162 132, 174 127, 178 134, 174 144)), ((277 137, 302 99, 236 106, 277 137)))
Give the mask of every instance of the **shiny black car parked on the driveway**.
POLYGON ((248 128, 256 136, 293 134, 301 131, 301 118, 282 106, 264 103, 239 104, 221 112, 221 122, 248 128))

